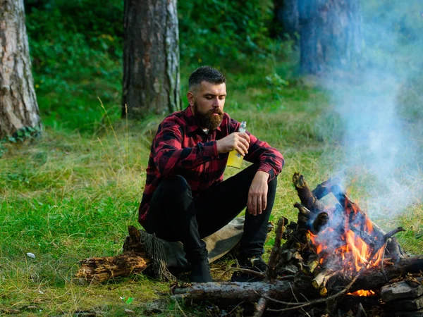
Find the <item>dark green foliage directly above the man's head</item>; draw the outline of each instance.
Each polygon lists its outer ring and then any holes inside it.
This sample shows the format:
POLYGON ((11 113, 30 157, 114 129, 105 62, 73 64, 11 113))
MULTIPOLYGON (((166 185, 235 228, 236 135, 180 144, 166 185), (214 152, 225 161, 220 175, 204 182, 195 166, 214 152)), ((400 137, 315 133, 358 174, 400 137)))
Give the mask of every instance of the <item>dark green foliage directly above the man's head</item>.
POLYGON ((257 68, 277 44, 269 38, 272 1, 178 1, 180 56, 188 65, 257 68))

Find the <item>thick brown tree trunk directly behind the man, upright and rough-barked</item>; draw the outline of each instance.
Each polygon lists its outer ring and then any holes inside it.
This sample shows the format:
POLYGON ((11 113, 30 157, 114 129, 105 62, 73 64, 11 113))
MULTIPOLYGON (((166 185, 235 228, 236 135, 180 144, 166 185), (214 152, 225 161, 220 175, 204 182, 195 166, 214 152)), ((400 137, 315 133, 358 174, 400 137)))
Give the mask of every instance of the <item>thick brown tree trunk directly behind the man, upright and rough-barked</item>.
POLYGON ((176 0, 125 0, 122 115, 180 110, 176 0))

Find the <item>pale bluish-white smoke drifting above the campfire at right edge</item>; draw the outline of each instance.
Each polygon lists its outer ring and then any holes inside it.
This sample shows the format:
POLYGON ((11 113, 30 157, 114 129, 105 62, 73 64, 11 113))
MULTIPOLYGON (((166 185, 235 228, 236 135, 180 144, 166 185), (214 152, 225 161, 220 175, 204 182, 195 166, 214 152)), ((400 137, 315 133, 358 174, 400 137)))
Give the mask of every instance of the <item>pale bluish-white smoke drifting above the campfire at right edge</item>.
POLYGON ((357 182, 371 216, 395 216, 423 194, 423 99, 412 94, 423 87, 423 3, 363 2, 360 71, 326 82, 343 130, 335 174, 357 182))

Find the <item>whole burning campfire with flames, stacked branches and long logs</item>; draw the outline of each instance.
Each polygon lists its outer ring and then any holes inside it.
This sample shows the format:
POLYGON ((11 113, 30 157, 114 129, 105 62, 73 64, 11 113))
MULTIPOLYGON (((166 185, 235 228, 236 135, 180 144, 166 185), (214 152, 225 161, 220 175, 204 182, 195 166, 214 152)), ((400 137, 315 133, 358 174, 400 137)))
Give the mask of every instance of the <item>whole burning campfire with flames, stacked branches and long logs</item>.
POLYGON ((404 229, 381 230, 338 179, 311 190, 295 173, 293 185, 298 220, 279 219, 267 272, 250 272, 263 282, 174 285, 173 294, 256 302, 254 316, 423 316, 423 256, 404 254, 395 237, 404 229), (334 204, 324 204, 329 194, 334 204))

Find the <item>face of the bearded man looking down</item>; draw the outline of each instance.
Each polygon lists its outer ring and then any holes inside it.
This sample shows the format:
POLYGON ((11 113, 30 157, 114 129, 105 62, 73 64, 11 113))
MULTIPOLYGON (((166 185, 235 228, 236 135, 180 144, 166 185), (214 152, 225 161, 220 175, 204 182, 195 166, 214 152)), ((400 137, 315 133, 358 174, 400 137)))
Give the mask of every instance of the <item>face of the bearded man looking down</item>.
POLYGON ((219 127, 225 106, 226 85, 202 81, 195 92, 188 92, 192 113, 203 129, 214 130, 219 127))

